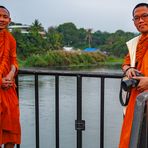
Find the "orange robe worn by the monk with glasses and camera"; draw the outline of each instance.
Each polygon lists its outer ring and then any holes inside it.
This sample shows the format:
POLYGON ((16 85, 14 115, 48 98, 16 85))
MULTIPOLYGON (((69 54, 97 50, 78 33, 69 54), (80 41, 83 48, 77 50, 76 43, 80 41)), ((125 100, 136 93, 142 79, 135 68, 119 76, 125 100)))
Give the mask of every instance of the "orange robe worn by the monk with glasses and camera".
MULTIPOLYGON (((130 65, 129 54, 125 57, 123 65, 130 65)), ((136 50, 136 68, 145 76, 148 76, 148 35, 142 35, 138 42, 136 50)), ((135 88, 131 91, 130 100, 122 125, 119 148, 129 148, 135 100, 139 93, 140 92, 135 88)))

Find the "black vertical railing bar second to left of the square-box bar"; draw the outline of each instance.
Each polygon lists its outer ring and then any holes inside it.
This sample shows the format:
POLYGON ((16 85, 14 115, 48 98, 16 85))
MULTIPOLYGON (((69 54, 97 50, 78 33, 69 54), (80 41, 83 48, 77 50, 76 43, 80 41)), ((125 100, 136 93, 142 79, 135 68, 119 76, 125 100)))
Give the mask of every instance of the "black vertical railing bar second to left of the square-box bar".
POLYGON ((39 90, 38 74, 35 74, 35 127, 36 127, 36 148, 40 147, 39 142, 39 90))

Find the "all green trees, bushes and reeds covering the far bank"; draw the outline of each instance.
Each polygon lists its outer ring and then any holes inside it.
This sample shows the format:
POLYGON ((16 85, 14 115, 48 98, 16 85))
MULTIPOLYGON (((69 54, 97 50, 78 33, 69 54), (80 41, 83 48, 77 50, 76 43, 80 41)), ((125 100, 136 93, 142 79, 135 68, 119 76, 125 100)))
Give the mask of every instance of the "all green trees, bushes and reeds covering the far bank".
POLYGON ((12 34, 17 41, 20 67, 121 64, 127 53, 125 42, 137 35, 122 30, 115 33, 93 32, 92 29, 78 29, 71 22, 49 27, 46 31, 38 20, 32 23, 28 33, 14 29, 12 34), (74 51, 63 51, 64 46, 73 47, 74 51), (100 52, 83 52, 86 47, 95 47, 100 52))

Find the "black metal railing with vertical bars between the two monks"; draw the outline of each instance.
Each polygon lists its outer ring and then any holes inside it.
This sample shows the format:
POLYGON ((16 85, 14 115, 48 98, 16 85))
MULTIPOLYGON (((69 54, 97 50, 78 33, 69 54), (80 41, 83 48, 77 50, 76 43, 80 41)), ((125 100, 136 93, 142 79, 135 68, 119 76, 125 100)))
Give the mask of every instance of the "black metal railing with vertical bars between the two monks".
MULTIPOLYGON (((39 75, 55 76, 55 141, 56 148, 60 148, 59 143, 59 77, 74 76, 77 78, 77 119, 75 121, 75 129, 77 131, 77 148, 82 148, 82 131, 85 130, 85 121, 82 120, 82 78, 94 77, 101 79, 101 102, 100 102, 100 148, 104 148, 104 93, 105 79, 122 77, 122 73, 104 73, 104 72, 69 72, 69 71, 47 71, 47 70, 19 70, 19 75, 34 75, 35 81, 35 128, 36 128, 36 148, 40 148, 40 130, 39 130, 39 75)), ((18 82, 19 83, 19 82, 18 82)), ((17 84, 18 85, 18 84, 17 84)), ((18 85, 19 86, 19 85, 18 85)), ((19 92, 18 92, 19 93, 19 92)), ((20 148, 20 145, 17 145, 20 148)))

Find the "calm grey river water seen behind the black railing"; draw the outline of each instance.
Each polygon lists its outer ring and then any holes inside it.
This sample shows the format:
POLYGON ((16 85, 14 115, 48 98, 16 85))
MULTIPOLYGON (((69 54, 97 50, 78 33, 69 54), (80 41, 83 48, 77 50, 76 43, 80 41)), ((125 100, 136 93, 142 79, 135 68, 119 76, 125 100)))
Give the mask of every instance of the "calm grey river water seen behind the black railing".
MULTIPOLYGON (((117 72, 120 70, 94 69, 117 72)), ((119 79, 105 81, 104 148, 117 148, 122 124, 119 79)), ((39 76, 40 147, 55 148, 55 79, 39 76)), ((76 78, 60 77, 60 148, 76 148, 76 78)), ((35 148, 34 77, 19 77, 21 148, 35 148)), ((100 79, 83 78, 83 148, 99 148, 100 79)))

